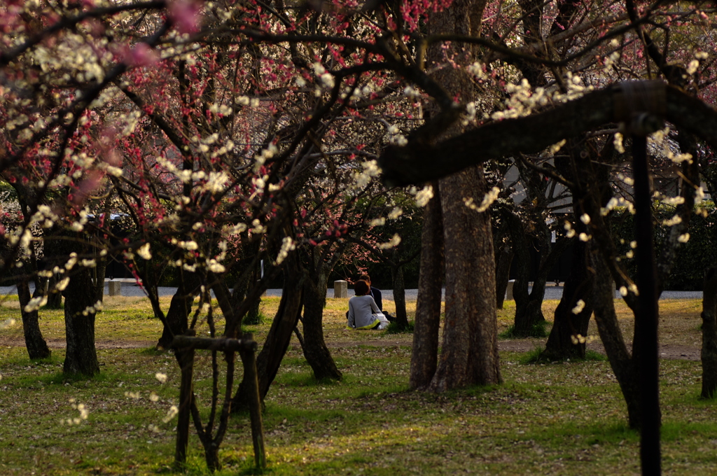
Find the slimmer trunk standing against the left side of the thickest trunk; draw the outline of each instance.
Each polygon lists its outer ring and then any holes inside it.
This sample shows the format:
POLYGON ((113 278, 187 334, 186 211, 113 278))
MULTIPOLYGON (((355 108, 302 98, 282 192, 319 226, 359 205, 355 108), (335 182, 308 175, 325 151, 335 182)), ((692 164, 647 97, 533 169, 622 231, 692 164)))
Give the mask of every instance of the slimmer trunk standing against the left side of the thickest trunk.
POLYGON ((421 273, 414 320, 411 376, 409 386, 423 389, 431 383, 438 360, 438 330, 441 318, 443 276, 443 219, 438 184, 435 196, 423 214, 421 232, 421 273))

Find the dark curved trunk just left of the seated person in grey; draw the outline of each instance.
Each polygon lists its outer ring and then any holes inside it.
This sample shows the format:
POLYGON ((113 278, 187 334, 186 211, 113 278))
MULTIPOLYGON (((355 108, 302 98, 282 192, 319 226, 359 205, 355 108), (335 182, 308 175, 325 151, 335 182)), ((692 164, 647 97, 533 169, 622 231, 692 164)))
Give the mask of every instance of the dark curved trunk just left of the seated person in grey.
MULTIPOLYGON (((318 266, 321 266, 319 263, 318 266)), ((328 273, 319 271, 318 275, 304 280, 304 341, 303 350, 306 361, 318 380, 341 380, 343 376, 331 357, 323 339, 323 308, 326 306, 326 288, 328 273)))

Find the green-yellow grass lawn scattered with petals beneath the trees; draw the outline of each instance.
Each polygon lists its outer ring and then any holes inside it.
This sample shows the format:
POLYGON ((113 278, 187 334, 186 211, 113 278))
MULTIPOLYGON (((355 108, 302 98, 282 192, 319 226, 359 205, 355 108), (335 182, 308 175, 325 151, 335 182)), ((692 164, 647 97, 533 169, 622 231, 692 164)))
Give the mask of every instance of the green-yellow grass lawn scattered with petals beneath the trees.
MULTIPOLYGON (((178 400, 174 357, 152 348, 161 325, 146 300, 106 299, 97 320, 103 371, 76 381, 61 373, 62 311, 42 311, 40 326, 53 355, 31 362, 16 300, 1 303, 0 323, 18 322, 0 330, 0 475, 171 473, 176 417, 166 416, 178 400), (168 376, 165 383, 157 372, 168 376)), ((272 315, 277 304, 277 298, 265 298, 263 313, 272 315)), ((556 305, 545 303, 546 317, 556 305)), ((661 302, 660 308, 663 343, 698 344, 700 303, 661 302)), ((266 399, 267 474, 640 473, 639 435, 625 425, 625 405, 606 361, 524 365, 523 353, 502 351, 500 386, 416 393, 407 391, 411 336, 345 330, 345 310, 346 300, 328 300, 325 318, 326 341, 343 381, 314 381, 292 341, 266 399)), ((499 312, 500 330, 511 324, 512 313, 499 312)), ((619 307, 619 315, 629 329, 630 314, 619 307)), ((250 330, 261 343, 268 328, 265 322, 250 330)), ((531 348, 543 340, 523 342, 531 348)), ((196 393, 206 408, 210 354, 197 356, 196 393)), ((660 365, 663 470, 712 474, 717 403, 698 399, 701 366, 675 359, 660 365)), ((224 469, 218 475, 253 474, 248 417, 232 419, 220 455, 224 469)), ((208 474, 194 435, 186 474, 208 474)))

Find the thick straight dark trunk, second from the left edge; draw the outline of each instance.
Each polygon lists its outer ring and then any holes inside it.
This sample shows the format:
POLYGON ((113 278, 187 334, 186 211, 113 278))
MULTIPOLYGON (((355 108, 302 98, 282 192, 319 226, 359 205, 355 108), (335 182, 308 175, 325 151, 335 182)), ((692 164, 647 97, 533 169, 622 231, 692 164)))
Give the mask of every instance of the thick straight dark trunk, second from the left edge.
POLYGON ((70 283, 62 292, 65 296, 65 353, 64 373, 87 376, 100 372, 95 349, 95 310, 97 294, 91 270, 75 267, 70 283))

